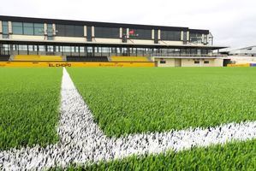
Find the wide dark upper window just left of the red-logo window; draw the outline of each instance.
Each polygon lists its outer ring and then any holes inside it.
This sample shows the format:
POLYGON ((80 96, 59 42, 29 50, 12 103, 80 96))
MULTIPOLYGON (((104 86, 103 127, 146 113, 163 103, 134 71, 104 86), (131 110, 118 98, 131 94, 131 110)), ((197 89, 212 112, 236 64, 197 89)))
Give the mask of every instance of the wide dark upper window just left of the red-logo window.
POLYGON ((119 28, 94 27, 96 38, 119 38, 119 28))

